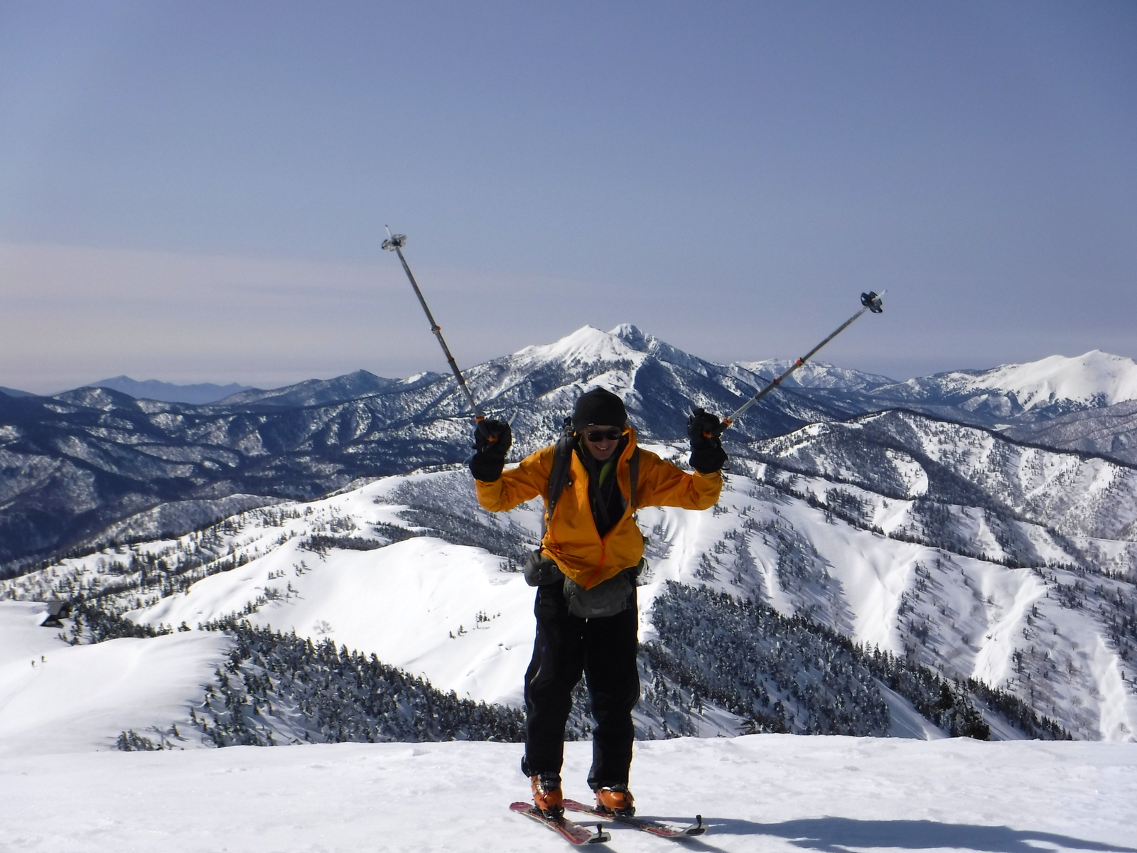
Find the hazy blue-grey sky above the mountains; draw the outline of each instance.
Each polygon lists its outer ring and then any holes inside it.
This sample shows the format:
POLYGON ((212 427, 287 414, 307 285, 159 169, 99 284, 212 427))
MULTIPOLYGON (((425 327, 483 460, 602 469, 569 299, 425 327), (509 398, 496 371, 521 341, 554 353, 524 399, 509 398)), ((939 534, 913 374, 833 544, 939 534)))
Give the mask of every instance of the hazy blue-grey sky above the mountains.
POLYGON ((0 0, 0 386, 634 323, 897 379, 1137 357, 1137 3, 0 0))

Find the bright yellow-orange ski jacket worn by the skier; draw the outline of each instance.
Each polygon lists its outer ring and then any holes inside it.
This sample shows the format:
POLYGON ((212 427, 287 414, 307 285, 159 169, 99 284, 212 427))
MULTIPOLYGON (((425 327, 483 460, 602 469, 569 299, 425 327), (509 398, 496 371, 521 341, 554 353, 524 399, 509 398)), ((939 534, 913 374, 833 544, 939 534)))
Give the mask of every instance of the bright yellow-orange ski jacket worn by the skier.
MULTIPOLYGON (((636 506, 631 506, 631 470, 629 459, 636 452, 636 432, 629 429, 628 446, 616 462, 616 482, 624 496, 624 514, 600 538, 588 502, 588 472, 575 453, 568 472, 568 483, 557 500, 541 540, 541 548, 568 578, 591 589, 644 556, 644 535, 636 525, 632 512, 641 506, 680 506, 684 510, 708 510, 719 500, 722 474, 695 472, 688 474, 664 462, 656 454, 640 450, 636 506)), ((554 446, 526 456, 521 464, 493 482, 475 480, 478 503, 490 512, 512 510, 540 496, 548 507, 549 473, 553 471, 554 446)))

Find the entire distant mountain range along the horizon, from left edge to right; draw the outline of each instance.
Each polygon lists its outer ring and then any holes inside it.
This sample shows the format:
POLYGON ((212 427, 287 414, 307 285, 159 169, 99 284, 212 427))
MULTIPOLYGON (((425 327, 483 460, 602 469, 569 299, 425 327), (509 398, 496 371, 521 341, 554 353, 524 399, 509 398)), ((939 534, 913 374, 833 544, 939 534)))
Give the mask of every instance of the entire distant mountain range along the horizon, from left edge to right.
MULTIPOLYGON (((786 365, 720 365, 633 325, 584 326, 465 375, 488 413, 513 419, 524 453, 557 434, 587 387, 620 391, 645 439, 672 440, 684 434, 692 406, 730 412, 786 365)), ((727 439, 737 453, 811 423, 906 408, 1135 464, 1126 395, 1137 397, 1137 365, 1098 351, 907 382, 816 363, 727 439)), ((140 399, 106 383, 52 397, 0 396, 0 573, 101 541, 181 533, 248 506, 310 499, 354 480, 459 462, 468 455, 467 417, 454 379, 440 373, 396 380, 357 371, 199 405, 140 399)))

